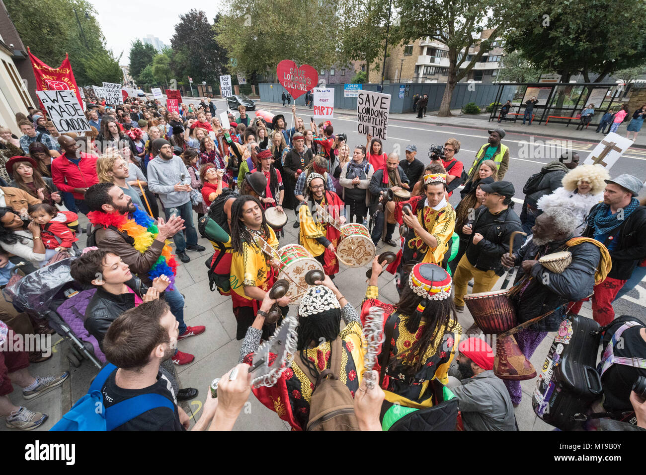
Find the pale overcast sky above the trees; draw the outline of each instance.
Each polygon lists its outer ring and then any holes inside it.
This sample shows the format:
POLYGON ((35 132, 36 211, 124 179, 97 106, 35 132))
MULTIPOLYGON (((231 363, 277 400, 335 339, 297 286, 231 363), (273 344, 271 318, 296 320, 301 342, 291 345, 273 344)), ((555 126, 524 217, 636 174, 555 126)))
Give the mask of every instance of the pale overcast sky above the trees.
POLYGON ((167 46, 171 46, 171 37, 175 25, 180 21, 180 14, 194 8, 203 10, 209 21, 213 21, 218 12, 221 0, 205 2, 203 0, 153 0, 151 2, 132 0, 90 0, 97 12, 97 19, 106 46, 116 56, 121 54, 120 65, 129 63, 130 43, 136 38, 147 35, 158 37, 167 46))

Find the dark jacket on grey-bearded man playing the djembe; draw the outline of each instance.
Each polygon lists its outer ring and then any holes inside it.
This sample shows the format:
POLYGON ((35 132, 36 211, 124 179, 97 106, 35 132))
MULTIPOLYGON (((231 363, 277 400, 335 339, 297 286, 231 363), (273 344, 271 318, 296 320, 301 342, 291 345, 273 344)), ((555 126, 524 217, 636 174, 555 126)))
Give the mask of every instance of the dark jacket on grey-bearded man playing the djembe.
MULTIPOLYGON (((568 238, 570 239, 570 238, 568 238)), ((538 259, 552 252, 565 250, 563 241, 553 241, 547 245, 537 246, 533 241, 514 252, 516 265, 523 261, 538 259)), ((541 332, 554 332, 559 329, 566 308, 559 308, 570 301, 579 301, 592 294, 594 288, 594 273, 599 267, 601 251, 592 243, 581 243, 567 248, 572 253, 572 263, 561 274, 547 270, 541 264, 535 264, 530 271, 532 280, 523 290, 516 294, 512 300, 516 303, 518 323, 523 323, 550 310, 552 314, 534 323, 530 328, 541 332)), ((525 272, 520 268, 516 276, 519 281, 525 272)))

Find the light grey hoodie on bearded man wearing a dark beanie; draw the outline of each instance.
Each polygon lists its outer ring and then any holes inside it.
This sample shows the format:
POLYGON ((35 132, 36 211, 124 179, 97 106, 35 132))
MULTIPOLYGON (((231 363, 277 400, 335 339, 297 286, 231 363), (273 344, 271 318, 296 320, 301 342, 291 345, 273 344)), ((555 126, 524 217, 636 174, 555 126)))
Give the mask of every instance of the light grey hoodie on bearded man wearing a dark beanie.
POLYGON ((191 185, 189 170, 180 157, 173 155, 170 160, 164 160, 158 155, 148 163, 148 188, 159 194, 165 208, 191 201, 189 192, 175 191, 180 181, 182 185, 191 185))

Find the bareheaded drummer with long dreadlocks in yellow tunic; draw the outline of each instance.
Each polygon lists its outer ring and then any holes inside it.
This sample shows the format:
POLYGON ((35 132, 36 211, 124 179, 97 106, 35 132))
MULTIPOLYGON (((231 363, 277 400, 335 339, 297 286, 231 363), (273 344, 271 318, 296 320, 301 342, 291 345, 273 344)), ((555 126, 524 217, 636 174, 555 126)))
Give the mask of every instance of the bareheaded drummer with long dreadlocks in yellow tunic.
MULTIPOLYGON (((278 239, 267 226, 262 205, 255 196, 236 198, 231 206, 231 299, 238 322, 236 339, 243 339, 251 327, 265 294, 276 281, 280 261, 270 255, 278 249, 278 239), (265 250, 263 250, 265 248, 265 250)), ((289 297, 277 300, 287 314, 289 297)), ((273 335, 276 323, 264 325, 262 338, 273 335)))

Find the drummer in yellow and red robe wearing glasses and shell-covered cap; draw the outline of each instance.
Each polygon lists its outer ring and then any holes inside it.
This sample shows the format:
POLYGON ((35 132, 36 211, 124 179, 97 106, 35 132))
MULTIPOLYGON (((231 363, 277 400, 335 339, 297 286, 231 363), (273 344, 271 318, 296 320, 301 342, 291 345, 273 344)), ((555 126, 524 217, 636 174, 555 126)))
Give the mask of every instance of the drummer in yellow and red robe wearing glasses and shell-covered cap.
POLYGON ((307 252, 323 266, 324 272, 333 278, 339 272, 339 261, 335 250, 341 238, 337 228, 324 221, 317 206, 324 207, 339 224, 346 222, 344 203, 333 191, 326 189, 326 179, 312 172, 307 176, 306 201, 298 208, 300 221, 299 242, 307 252))

